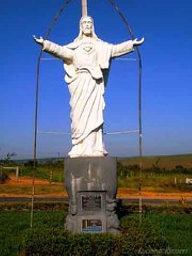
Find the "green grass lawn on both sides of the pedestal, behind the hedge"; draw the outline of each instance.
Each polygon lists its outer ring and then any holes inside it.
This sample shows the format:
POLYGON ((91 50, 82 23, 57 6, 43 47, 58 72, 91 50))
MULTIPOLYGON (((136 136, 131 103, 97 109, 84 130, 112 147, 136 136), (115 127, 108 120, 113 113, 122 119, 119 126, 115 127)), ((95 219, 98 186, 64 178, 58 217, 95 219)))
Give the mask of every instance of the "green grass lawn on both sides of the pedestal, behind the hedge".
MULTIPOLYGON (((169 250, 175 250, 175 252, 187 250, 187 255, 192 255, 192 213, 185 214, 185 211, 181 209, 178 211, 178 209, 170 207, 169 212, 168 207, 150 207, 144 213, 144 223, 153 223, 157 230, 162 230, 163 236, 168 240, 169 250)), ((39 231, 60 230, 64 232, 66 215, 67 212, 63 210, 36 211, 33 227, 39 231)), ((123 217, 121 216, 120 225, 122 232, 134 225, 138 226, 138 215, 135 210, 125 211, 123 217)), ((15 256, 17 252, 22 251, 24 239, 30 230, 29 226, 30 213, 28 211, 0 211, 0 256, 15 256)))

